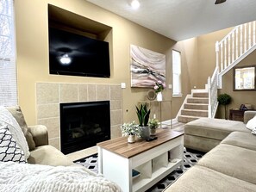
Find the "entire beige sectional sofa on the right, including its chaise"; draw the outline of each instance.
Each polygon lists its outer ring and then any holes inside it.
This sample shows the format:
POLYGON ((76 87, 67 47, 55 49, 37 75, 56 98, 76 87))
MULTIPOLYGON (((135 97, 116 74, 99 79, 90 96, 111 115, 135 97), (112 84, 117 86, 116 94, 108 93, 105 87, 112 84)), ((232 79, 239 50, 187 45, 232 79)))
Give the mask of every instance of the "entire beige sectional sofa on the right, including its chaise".
MULTIPOLYGON (((255 112, 247 111, 244 122, 254 115, 255 112)), ((186 146, 205 152, 212 149, 165 192, 256 191, 256 135, 243 122, 209 119, 207 124, 206 121, 203 119, 186 125, 184 132, 190 136, 193 133, 191 137, 196 138, 196 144, 190 140, 186 146), (213 126, 214 121, 216 127, 213 126), (188 130, 191 127, 192 130, 188 130)))

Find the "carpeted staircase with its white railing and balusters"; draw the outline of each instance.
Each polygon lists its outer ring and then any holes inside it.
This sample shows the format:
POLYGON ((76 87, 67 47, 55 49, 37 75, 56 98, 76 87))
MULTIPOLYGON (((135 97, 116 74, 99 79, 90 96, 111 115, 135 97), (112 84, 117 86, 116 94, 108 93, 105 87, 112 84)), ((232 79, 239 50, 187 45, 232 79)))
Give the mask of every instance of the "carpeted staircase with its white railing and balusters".
POLYGON ((217 90, 222 89, 222 76, 256 49, 256 22, 235 27, 216 42, 216 66, 205 90, 191 90, 178 111, 178 122, 187 123, 200 117, 214 118, 218 107, 217 90))

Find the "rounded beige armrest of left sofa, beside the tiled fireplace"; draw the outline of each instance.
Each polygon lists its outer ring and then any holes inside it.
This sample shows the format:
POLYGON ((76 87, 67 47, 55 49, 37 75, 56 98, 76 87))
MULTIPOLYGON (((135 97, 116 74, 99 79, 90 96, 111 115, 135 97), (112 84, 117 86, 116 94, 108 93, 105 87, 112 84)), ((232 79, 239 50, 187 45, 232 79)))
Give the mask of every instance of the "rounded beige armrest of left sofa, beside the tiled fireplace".
POLYGON ((28 126, 28 131, 33 136, 35 146, 45 146, 49 144, 47 127, 43 125, 28 126))

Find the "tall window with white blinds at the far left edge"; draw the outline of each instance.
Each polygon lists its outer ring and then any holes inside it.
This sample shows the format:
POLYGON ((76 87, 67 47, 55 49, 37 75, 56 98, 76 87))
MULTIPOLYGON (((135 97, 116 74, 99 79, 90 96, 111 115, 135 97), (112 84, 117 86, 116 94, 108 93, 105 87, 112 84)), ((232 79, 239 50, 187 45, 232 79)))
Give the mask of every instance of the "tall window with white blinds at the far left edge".
POLYGON ((13 0, 0 0, 0 105, 17 104, 13 0))

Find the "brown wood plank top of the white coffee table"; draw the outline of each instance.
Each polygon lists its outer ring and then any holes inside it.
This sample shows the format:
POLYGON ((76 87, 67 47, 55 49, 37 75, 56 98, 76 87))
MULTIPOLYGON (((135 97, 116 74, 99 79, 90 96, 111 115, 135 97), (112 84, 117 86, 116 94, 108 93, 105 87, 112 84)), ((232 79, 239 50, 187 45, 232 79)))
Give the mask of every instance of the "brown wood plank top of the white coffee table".
POLYGON ((172 131, 171 129, 159 129, 156 134, 158 139, 150 142, 147 142, 145 139, 136 139, 135 143, 128 143, 127 137, 120 137, 97 143, 97 146, 100 146, 109 152, 115 152, 124 158, 132 158, 141 152, 146 152, 155 146, 159 146, 182 135, 184 135, 184 133, 172 131))

